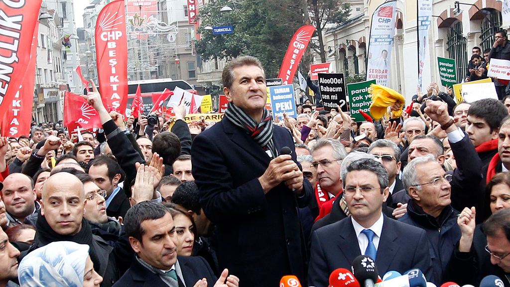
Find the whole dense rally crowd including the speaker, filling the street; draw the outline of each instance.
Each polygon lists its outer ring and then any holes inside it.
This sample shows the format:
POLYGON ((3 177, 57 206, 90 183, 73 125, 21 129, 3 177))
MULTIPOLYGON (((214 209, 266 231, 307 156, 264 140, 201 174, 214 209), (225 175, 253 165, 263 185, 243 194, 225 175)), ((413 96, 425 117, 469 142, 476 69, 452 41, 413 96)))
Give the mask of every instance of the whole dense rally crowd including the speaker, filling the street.
POLYGON ((101 129, 1 137, 0 286, 336 287, 364 255, 380 278, 510 287, 510 97, 455 103, 431 83, 377 121, 310 100, 273 119, 265 80, 233 59, 221 122, 187 124, 182 103, 154 125, 92 82, 101 129))

